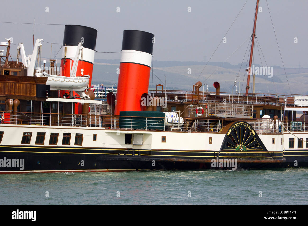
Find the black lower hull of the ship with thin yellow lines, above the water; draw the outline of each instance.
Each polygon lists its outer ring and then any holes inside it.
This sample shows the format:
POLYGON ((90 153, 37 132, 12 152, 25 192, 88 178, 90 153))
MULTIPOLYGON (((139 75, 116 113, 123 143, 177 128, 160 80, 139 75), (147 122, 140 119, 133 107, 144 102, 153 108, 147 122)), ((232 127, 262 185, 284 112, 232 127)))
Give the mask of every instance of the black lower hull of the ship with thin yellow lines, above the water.
MULTIPOLYGON (((28 173, 28 172, 101 172, 101 171, 129 171, 129 170, 199 170, 199 169, 232 169, 229 167, 212 167, 213 157, 164 157, 151 156, 155 150, 145 150, 148 156, 143 156, 140 151, 133 150, 103 150, 103 149, 70 149, 70 148, 38 148, 21 146, 0 146, 0 159, 24 159, 23 169, 20 167, 0 167, 0 174, 28 173)), ((169 151, 166 150, 166 153, 169 151)), ((176 153, 172 153, 175 155, 176 153)), ((280 167, 307 167, 306 157, 286 157, 279 154, 272 158, 260 157, 261 155, 274 156, 273 153, 250 154, 250 158, 237 156, 237 169, 267 169, 280 167), (294 159, 298 166, 294 166, 294 159)), ((221 153, 222 155, 222 153, 221 153)), ((231 156, 236 154, 231 153, 231 156)), ((214 157, 216 156, 216 157, 214 157)), ((230 156, 230 157, 231 157, 230 156)), ((219 157, 219 159, 226 158, 219 157)))

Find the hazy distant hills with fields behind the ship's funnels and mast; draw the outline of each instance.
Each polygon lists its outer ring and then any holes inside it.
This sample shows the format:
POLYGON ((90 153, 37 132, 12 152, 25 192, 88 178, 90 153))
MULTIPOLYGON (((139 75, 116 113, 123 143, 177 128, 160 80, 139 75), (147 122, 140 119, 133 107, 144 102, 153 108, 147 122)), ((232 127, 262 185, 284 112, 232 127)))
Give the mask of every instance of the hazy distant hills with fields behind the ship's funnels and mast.
MULTIPOLYGON (((120 67, 119 63, 119 59, 95 59, 92 84, 104 83, 105 86, 108 86, 114 82, 117 83, 118 74, 116 71, 117 68, 120 67)), ((246 62, 242 64, 241 70, 241 63, 232 65, 226 62, 219 67, 221 63, 222 62, 209 62, 205 67, 205 62, 153 61, 153 73, 151 72, 150 74, 149 89, 152 89, 152 87, 156 89, 156 84, 164 84, 164 75, 166 75, 167 89, 191 90, 193 84, 197 81, 201 81, 202 83, 208 84, 210 91, 214 91, 213 82, 219 81, 221 83, 221 92, 232 92, 235 77, 239 75, 241 81, 239 84, 237 80, 237 89, 241 90, 242 93, 245 92, 247 80, 247 73, 245 71, 246 62), (190 74, 188 74, 189 68, 191 71, 190 74), (203 72, 201 73, 202 70, 203 72)), ((308 68, 286 68, 286 74, 288 76, 291 93, 308 93, 308 89, 306 88, 308 68)), ((289 85, 286 81, 285 71, 280 66, 273 66, 273 77, 271 78, 264 75, 256 76, 257 93, 290 93, 289 85)))

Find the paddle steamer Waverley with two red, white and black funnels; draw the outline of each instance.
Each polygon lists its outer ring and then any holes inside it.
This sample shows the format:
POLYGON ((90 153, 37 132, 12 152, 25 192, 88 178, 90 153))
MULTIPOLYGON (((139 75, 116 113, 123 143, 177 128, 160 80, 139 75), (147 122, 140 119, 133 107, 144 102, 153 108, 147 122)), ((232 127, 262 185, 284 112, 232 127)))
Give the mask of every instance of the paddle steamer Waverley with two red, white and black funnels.
MULTIPOLYGON (((96 34, 65 26, 59 72, 55 60, 34 68, 42 39, 27 57, 18 45, 22 62, 9 61, 10 39, 1 43, 0 173, 308 165, 308 97, 249 93, 250 72, 243 94, 219 82, 214 93, 201 82, 148 92, 154 35, 138 30, 124 30, 118 82, 102 91, 91 87, 96 34)), ((249 66, 252 55, 253 42, 249 66)))

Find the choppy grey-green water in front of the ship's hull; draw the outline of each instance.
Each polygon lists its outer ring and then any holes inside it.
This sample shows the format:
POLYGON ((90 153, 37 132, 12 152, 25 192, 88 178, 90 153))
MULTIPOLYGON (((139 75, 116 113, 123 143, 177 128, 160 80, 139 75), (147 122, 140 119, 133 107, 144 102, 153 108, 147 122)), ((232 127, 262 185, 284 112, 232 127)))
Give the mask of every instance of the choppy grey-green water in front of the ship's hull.
POLYGON ((308 168, 0 175, 0 204, 308 204, 307 197, 308 168))

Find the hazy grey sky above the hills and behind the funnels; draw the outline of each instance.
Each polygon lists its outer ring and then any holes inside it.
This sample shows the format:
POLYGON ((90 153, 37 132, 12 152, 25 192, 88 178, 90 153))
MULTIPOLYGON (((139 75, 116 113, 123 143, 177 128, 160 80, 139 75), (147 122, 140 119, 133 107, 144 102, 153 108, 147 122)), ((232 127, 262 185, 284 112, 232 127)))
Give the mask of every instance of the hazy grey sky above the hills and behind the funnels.
MULTIPOLYGON (((160 61, 208 61, 219 42, 240 12, 246 0, 223 1, 8 1, 2 7, 1 22, 76 24, 98 30, 96 50, 121 50, 123 30, 134 29, 153 33, 156 38, 153 55, 160 61), (49 12, 46 12, 49 7, 49 12), (120 12, 116 12, 120 7, 120 12), (188 12, 191 7, 191 12, 188 12)), ((286 67, 308 67, 307 0, 267 0, 282 59, 286 67), (294 43, 294 38, 298 43, 294 43)), ((4 2, 3 2, 4 3, 4 2)), ((252 34, 256 1, 248 0, 211 61, 225 61, 252 34)), ((2 4, 3 6, 3 4, 2 4)), ((269 66, 282 66, 269 11, 260 0, 262 12, 257 17, 257 38, 269 66)), ((31 54, 33 24, 0 23, 1 37, 24 42, 31 54)), ((35 38, 62 43, 64 25, 35 25, 35 38)), ((248 46, 245 42, 227 62, 241 63, 248 46)), ((61 45, 43 43, 43 57, 52 57, 61 45)), ((16 47, 11 54, 16 56, 16 47)), ((57 58, 61 57, 62 51, 57 58)), ((256 64, 260 57, 256 49, 256 64)), ((120 59, 120 54, 97 53, 95 58, 120 59)), ((263 62, 263 57, 261 58, 263 62)), ((14 59, 13 59, 14 60, 14 59)), ((247 60, 247 55, 245 57, 247 60)), ((168 65, 166 65, 168 66, 168 65)))

